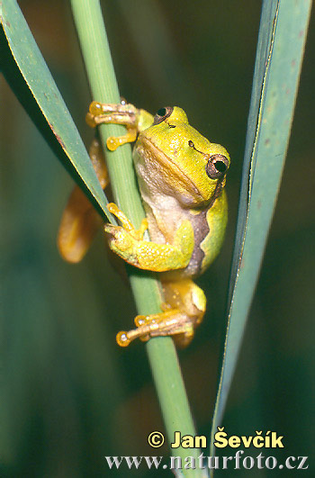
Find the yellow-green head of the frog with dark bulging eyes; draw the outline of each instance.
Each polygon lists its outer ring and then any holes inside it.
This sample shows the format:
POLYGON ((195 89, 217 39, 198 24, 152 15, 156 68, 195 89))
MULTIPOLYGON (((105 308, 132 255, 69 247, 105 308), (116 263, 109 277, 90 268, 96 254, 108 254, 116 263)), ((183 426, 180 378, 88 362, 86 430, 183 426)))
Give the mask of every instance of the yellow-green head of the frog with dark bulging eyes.
POLYGON ((187 207, 211 202, 225 185, 229 153, 194 130, 177 106, 158 110, 136 148, 149 181, 187 207))

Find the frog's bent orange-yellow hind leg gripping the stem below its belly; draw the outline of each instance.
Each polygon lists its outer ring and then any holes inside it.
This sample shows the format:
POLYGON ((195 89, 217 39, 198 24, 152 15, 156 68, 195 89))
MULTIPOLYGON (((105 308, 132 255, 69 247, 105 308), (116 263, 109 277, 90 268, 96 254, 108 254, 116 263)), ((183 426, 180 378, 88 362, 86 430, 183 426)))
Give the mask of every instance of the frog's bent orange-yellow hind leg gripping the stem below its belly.
POLYGON ((159 336, 172 336, 176 345, 187 346, 192 338, 194 329, 202 321, 206 299, 205 295, 190 279, 163 284, 165 303, 161 313, 148 316, 138 315, 135 318, 137 329, 129 332, 120 332, 117 343, 126 347, 131 340, 159 336))

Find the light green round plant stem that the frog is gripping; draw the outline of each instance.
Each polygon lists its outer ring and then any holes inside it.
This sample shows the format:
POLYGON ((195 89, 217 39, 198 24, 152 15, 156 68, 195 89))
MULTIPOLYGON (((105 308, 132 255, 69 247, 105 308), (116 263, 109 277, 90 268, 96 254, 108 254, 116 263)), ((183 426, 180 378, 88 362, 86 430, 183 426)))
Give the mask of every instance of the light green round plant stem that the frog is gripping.
MULTIPOLYGON (((102 103, 119 103, 120 95, 99 2, 72 0, 71 4, 93 98, 102 103)), ((101 125, 100 135, 104 149, 106 150, 108 136, 120 136, 123 132, 123 127, 119 125, 101 125)), ((135 227, 139 227, 144 212, 132 167, 130 145, 124 145, 108 154, 106 151, 106 158, 115 201, 135 227)), ((139 314, 148 315, 160 311, 161 299, 156 280, 141 271, 132 270, 130 284, 139 314)), ((194 437, 193 418, 173 340, 171 338, 150 339, 147 343, 147 351, 166 424, 168 441, 174 440, 175 431, 194 437)), ((156 450, 152 448, 152 451, 156 452, 156 450)), ((196 448, 190 448, 187 451, 179 447, 175 449, 174 455, 182 458, 184 466, 184 458, 187 455, 197 458, 200 451, 196 448)), ((183 475, 198 477, 207 476, 207 473, 204 470, 191 469, 183 470, 183 475)))

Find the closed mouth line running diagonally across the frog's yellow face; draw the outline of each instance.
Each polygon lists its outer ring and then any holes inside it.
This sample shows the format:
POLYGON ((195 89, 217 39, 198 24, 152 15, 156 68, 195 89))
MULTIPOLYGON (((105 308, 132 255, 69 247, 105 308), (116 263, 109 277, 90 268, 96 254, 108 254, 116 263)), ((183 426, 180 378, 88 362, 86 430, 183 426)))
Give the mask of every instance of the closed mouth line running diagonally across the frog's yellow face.
MULTIPOLYGON (((181 169, 172 160, 172 158, 166 157, 166 154, 161 149, 157 148, 157 146, 151 140, 149 140, 148 137, 144 138, 139 136, 138 141, 140 144, 142 143, 143 145, 146 145, 149 150, 156 151, 156 153, 153 153, 155 160, 163 167, 170 168, 172 171, 172 176, 176 178, 180 185, 184 186, 185 191, 189 191, 189 193, 193 195, 194 199, 198 200, 199 202, 200 200, 211 200, 212 196, 211 198, 209 198, 208 196, 203 196, 200 189, 193 183, 192 179, 184 173, 183 169, 181 169)), ((216 189, 217 188, 215 188, 215 191, 216 189)))

